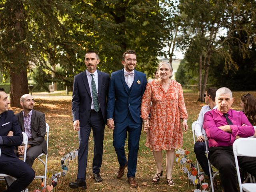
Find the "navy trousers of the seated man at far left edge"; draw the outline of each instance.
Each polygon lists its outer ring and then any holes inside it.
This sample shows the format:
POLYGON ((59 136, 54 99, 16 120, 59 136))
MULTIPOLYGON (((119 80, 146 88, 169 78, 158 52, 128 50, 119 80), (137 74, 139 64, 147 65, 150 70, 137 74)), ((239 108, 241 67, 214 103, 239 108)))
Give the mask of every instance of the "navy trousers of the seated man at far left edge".
POLYGON ((28 164, 18 158, 6 156, 5 154, 1 154, 0 173, 17 178, 5 192, 21 192, 35 178, 35 172, 28 164))

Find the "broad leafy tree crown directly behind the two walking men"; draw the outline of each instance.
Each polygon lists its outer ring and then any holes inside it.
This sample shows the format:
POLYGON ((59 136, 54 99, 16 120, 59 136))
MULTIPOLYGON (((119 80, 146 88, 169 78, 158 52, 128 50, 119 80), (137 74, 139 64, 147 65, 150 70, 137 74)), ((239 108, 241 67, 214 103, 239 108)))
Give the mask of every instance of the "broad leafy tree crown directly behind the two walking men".
POLYGON ((90 37, 92 42, 82 42, 82 46, 99 53, 100 70, 111 73, 121 69, 122 53, 127 49, 137 52, 138 70, 147 72, 157 65, 162 41, 168 35, 159 1, 96 0, 83 1, 79 6, 78 33, 90 37), (82 16, 86 12, 91 13, 90 24, 82 16))

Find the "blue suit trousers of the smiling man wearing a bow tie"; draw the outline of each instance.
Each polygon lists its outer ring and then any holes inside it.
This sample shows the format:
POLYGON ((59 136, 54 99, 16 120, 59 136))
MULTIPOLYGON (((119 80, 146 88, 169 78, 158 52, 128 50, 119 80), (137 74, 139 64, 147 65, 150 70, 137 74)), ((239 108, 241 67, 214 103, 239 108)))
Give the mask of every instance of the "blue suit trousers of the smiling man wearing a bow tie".
POLYGON ((142 123, 134 122, 130 114, 122 123, 115 122, 115 128, 113 132, 113 146, 115 148, 117 159, 121 167, 123 167, 127 162, 124 146, 128 132, 128 178, 135 176, 141 128, 142 123))

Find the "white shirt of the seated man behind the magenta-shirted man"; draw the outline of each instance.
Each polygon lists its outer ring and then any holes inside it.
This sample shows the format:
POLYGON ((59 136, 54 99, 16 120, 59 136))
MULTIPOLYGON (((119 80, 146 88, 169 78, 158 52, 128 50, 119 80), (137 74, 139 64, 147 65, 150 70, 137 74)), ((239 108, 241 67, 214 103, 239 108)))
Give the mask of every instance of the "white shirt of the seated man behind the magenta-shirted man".
MULTIPOLYGON (((217 105, 214 106, 213 109, 216 109, 217 105)), ((205 105, 202 107, 198 119, 196 120, 196 124, 195 124, 195 135, 196 138, 198 138, 199 136, 202 136, 203 134, 205 135, 205 130, 203 129, 203 124, 204 124, 204 114, 208 111, 211 111, 212 109, 210 108, 209 105, 205 105)))

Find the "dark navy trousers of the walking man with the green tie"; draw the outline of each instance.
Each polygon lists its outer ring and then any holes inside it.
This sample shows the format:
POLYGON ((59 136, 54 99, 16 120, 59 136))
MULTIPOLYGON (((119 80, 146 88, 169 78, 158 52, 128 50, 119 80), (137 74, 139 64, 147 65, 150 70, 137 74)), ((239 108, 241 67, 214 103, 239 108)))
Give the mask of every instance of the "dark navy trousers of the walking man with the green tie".
POLYGON ((88 141, 90 132, 93 132, 94 140, 94 157, 92 161, 92 172, 94 174, 100 172, 100 167, 102 164, 102 154, 103 154, 103 140, 104 140, 104 129, 105 122, 102 117, 101 111, 95 112, 91 111, 88 122, 85 126, 80 127, 79 130, 79 149, 78 149, 78 179, 86 178, 86 167, 88 158, 88 141))

